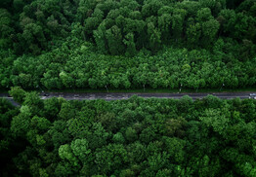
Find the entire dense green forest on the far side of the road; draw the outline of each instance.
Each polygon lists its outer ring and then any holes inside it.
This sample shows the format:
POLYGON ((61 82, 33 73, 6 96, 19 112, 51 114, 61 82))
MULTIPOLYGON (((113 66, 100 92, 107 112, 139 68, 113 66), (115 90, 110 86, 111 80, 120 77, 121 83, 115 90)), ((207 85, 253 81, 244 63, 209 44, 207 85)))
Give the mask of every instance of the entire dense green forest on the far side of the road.
POLYGON ((255 0, 2 0, 0 89, 255 87, 255 0))

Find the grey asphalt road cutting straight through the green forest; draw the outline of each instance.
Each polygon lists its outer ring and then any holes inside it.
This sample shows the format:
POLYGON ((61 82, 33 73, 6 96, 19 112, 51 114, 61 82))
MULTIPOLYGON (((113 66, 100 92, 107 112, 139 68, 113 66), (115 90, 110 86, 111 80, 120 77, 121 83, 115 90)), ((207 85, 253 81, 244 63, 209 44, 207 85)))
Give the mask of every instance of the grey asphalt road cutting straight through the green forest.
MULTIPOLYGON (((48 99, 51 97, 64 97, 66 100, 94 100, 94 99, 105 99, 107 101, 117 99, 128 99, 133 95, 138 95, 144 98, 173 98, 180 99, 184 95, 189 95, 192 99, 201 99, 209 94, 217 96, 221 99, 233 99, 233 98, 255 98, 256 96, 250 96, 252 92, 218 92, 218 93, 68 93, 68 92, 47 92, 41 93, 42 99, 48 99)), ((8 93, 0 93, 0 97, 9 99, 13 105, 19 106, 8 93)))

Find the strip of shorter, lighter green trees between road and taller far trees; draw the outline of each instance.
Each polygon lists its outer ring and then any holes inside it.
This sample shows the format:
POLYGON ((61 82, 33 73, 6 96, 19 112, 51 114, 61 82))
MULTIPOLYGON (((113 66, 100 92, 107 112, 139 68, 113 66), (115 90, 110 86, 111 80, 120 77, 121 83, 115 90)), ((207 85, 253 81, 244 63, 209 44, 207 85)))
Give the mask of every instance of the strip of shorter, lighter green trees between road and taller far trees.
POLYGON ((166 48, 150 56, 110 56, 92 53, 87 42, 68 39, 62 48, 50 53, 18 57, 9 65, 10 73, 3 73, 2 88, 180 89, 182 85, 197 90, 255 86, 256 57, 239 57, 247 47, 239 49, 237 43, 219 39, 213 48, 213 52, 166 48))

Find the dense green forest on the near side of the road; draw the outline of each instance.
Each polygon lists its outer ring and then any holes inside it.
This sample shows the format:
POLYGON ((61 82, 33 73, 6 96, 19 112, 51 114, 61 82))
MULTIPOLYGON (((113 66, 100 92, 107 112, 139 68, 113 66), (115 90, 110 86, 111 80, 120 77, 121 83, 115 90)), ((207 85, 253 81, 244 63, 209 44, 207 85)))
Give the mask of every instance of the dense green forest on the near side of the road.
POLYGON ((0 99, 1 176, 256 176, 256 100, 0 99), (9 174, 9 175, 8 175, 9 174))

